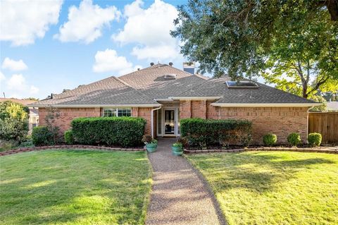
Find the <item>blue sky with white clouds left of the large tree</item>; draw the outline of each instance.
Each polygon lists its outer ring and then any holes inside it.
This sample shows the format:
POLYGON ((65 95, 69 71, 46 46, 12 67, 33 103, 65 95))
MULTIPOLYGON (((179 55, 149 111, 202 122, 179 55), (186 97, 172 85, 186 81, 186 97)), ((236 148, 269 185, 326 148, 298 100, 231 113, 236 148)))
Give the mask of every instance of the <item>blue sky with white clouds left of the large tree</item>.
POLYGON ((182 68, 169 31, 185 3, 1 0, 0 97, 44 99, 151 62, 182 68))

